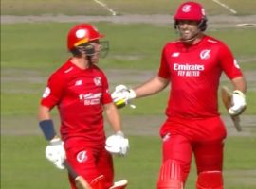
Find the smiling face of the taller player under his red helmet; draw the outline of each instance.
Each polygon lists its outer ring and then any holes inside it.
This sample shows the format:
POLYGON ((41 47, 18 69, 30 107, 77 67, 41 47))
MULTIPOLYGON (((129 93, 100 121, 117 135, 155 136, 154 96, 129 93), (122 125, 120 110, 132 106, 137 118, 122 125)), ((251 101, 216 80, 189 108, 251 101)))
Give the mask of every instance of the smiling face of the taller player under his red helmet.
POLYGON ((199 32, 197 21, 182 20, 177 24, 181 40, 188 41, 194 38, 199 32))

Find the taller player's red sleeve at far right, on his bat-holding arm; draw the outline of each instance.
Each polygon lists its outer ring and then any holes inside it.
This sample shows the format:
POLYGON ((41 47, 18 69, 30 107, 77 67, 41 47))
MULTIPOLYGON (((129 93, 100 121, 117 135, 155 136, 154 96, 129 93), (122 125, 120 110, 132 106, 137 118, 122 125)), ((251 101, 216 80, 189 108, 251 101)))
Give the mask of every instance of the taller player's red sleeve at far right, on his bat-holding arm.
POLYGON ((237 61, 234 59, 229 47, 222 43, 219 49, 221 67, 229 79, 243 76, 237 61))

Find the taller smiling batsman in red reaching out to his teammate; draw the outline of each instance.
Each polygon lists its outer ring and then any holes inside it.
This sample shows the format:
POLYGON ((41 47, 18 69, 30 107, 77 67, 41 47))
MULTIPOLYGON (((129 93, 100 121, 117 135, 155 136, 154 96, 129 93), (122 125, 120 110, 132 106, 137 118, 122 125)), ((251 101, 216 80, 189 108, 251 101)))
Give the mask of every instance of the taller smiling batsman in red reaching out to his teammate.
POLYGON ((185 188, 192 155, 197 168, 195 188, 224 188, 227 130, 218 112, 220 77, 226 74, 233 86, 230 115, 245 110, 247 84, 229 47, 205 34, 207 21, 199 3, 181 4, 174 14, 179 38, 163 47, 157 76, 134 89, 119 85, 112 94, 122 107, 170 85, 167 118, 160 129, 162 165, 157 189, 185 188))

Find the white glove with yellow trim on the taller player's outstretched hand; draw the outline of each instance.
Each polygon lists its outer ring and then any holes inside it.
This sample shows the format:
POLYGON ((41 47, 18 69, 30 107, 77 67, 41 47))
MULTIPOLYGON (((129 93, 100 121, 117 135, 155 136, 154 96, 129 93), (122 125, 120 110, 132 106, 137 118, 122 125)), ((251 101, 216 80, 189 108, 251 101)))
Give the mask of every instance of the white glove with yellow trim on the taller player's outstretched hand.
POLYGON ((125 85, 118 85, 111 94, 111 97, 118 108, 122 108, 127 104, 133 109, 136 108, 135 105, 131 104, 132 99, 136 98, 136 93, 134 90, 128 89, 125 85))

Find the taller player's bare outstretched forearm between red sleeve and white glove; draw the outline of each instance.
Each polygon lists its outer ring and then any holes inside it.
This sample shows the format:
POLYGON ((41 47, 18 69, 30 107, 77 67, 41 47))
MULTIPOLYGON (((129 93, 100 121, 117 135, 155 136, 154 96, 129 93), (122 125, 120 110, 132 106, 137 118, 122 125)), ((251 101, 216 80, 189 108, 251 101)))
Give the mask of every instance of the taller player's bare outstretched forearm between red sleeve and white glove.
POLYGON ((162 91, 168 85, 168 83, 169 81, 167 79, 156 76, 143 83, 142 85, 136 87, 134 91, 137 98, 144 97, 162 91))

